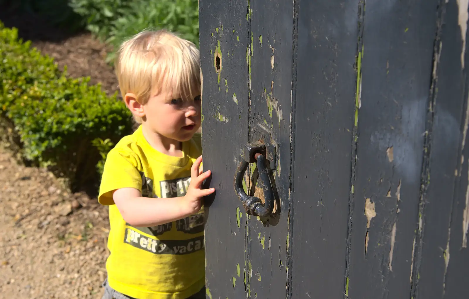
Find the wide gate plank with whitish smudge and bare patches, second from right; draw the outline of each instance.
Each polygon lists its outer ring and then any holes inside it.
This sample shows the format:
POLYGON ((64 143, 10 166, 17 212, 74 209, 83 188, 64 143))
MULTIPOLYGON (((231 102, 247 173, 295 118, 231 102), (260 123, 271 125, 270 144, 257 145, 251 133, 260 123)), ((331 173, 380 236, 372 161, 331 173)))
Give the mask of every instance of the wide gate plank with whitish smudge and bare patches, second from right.
POLYGON ((365 4, 346 294, 409 298, 438 0, 365 4))

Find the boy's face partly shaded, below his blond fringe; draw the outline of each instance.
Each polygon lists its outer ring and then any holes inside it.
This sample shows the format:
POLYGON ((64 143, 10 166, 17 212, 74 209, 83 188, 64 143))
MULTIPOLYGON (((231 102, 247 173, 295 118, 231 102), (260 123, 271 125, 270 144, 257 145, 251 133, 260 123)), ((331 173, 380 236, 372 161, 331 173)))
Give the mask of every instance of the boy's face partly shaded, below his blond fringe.
POLYGON ((187 141, 200 128, 200 95, 182 99, 162 91, 142 106, 145 123, 158 134, 177 141, 187 141))

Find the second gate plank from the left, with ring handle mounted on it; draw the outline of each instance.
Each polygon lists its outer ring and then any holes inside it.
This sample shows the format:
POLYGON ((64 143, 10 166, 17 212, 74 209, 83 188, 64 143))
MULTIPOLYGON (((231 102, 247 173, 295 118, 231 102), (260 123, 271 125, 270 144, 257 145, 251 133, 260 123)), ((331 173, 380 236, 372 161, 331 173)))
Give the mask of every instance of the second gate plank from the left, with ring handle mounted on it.
POLYGON ((274 179, 280 206, 263 222, 250 217, 247 289, 249 298, 286 298, 293 3, 248 0, 248 8, 250 141, 264 138, 277 148, 274 179))

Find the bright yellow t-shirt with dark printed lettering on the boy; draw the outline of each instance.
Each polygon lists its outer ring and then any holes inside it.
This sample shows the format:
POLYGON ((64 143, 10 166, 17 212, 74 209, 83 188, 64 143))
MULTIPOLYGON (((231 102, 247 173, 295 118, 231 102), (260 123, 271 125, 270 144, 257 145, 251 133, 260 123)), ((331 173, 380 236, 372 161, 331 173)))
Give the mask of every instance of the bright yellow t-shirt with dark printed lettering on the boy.
POLYGON ((109 205, 111 252, 106 269, 109 285, 136 299, 183 299, 205 284, 204 210, 155 227, 132 227, 114 204, 112 193, 124 187, 142 196, 186 194, 190 168, 202 153, 200 135, 182 144, 183 157, 168 156, 150 146, 140 126, 108 153, 98 200, 109 205))

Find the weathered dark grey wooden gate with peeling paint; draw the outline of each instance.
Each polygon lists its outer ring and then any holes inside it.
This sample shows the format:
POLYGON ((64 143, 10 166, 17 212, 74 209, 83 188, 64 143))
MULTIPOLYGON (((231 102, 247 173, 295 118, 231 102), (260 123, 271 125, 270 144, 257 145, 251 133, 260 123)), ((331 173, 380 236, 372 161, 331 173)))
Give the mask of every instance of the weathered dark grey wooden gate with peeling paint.
POLYGON ((207 298, 469 298, 468 0, 199 12, 207 298), (276 199, 262 218, 233 187, 259 139, 276 199))

